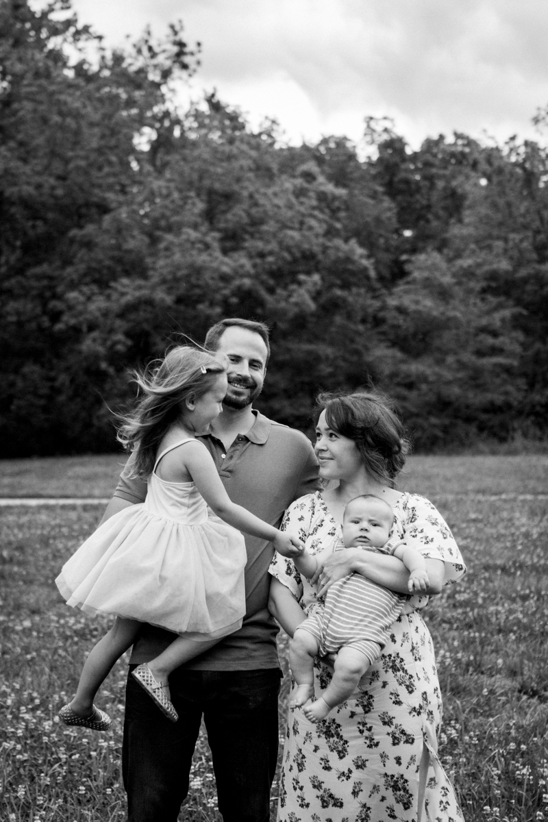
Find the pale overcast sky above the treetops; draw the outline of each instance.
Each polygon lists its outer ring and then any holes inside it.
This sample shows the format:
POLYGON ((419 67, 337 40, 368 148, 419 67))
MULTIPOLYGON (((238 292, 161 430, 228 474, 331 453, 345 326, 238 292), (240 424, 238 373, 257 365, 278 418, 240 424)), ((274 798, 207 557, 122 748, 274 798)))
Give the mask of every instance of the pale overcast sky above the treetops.
MULTIPOLYGON (((394 118, 417 146, 454 131, 539 139, 548 104, 548 0, 73 0, 81 22, 122 44, 182 19, 202 43, 192 94, 215 87, 292 142, 394 118)), ((545 135, 546 136, 546 135, 545 135)), ((544 140, 543 140, 544 141, 544 140)))

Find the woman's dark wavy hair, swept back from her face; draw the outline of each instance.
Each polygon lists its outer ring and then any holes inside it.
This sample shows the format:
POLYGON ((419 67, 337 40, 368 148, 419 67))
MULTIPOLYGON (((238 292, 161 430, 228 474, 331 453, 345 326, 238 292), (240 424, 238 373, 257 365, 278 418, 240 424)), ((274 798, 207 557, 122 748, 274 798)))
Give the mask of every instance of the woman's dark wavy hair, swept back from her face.
POLYGON ((392 401, 377 391, 320 394, 315 423, 322 411, 332 431, 356 443, 371 478, 394 487, 410 446, 392 401))

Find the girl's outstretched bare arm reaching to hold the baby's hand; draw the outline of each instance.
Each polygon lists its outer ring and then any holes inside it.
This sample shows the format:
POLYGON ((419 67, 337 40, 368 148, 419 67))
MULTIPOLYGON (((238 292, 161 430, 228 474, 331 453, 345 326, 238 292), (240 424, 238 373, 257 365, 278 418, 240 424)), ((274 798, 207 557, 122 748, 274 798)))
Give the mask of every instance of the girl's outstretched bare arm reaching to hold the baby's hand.
POLYGON ((282 533, 273 525, 251 514, 246 508, 237 506, 230 499, 219 478, 210 452, 201 442, 187 442, 181 450, 184 468, 191 475, 208 506, 221 520, 232 525, 233 528, 251 534, 252 537, 268 539, 274 544, 276 551, 283 556, 298 556, 302 552, 302 544, 297 538, 282 533))

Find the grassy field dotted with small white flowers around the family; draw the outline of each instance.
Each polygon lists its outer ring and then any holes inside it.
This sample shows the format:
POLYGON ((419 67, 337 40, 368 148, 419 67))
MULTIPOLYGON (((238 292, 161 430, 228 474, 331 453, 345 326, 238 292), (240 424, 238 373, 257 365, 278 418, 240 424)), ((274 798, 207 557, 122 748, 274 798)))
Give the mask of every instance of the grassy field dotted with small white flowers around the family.
MULTIPOLYGON (((4 462, 0 496, 108 497, 120 461, 4 462)), ((414 457, 402 483, 439 507, 469 568, 426 612, 444 695, 440 755, 467 822, 548 820, 546 478, 546 455, 414 457)), ((53 579, 101 513, 101 506, 0 509, 2 822, 125 818, 124 665, 101 693, 112 733, 72 730, 56 718, 105 623, 68 609, 53 579)), ((284 652, 285 640, 280 645, 284 652)), ((287 677, 281 717, 285 700, 287 677)), ((220 820, 203 737, 181 820, 220 820)))

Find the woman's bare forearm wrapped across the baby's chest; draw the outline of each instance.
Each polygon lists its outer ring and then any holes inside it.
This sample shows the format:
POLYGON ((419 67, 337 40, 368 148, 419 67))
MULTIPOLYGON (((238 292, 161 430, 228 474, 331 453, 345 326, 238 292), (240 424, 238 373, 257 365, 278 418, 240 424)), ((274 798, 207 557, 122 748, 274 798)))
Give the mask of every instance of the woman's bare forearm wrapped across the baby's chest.
MULTIPOLYGON (((445 568, 442 560, 432 560, 425 557, 426 572, 429 584, 425 593, 440 593, 444 584, 445 568)), ((329 587, 342 580, 349 574, 361 574, 371 582, 383 585, 396 593, 409 593, 409 571, 401 560, 395 556, 363 551, 361 548, 347 548, 346 551, 335 552, 320 565, 312 584, 321 576, 323 587, 318 591, 323 596, 329 587)))

